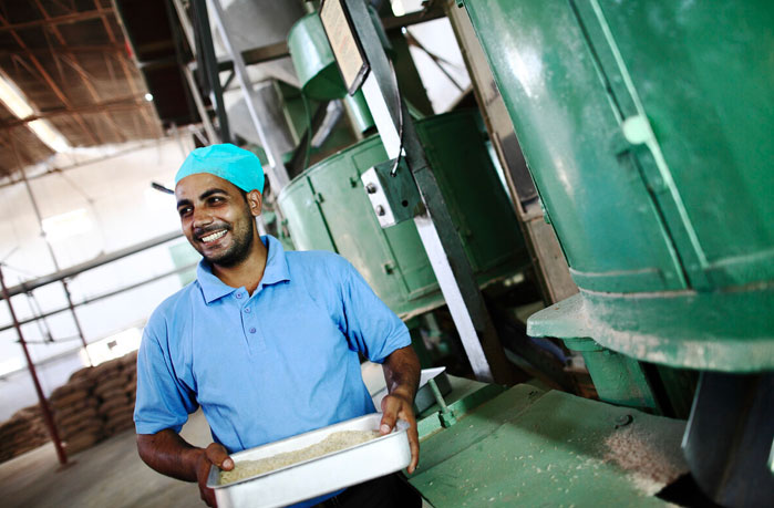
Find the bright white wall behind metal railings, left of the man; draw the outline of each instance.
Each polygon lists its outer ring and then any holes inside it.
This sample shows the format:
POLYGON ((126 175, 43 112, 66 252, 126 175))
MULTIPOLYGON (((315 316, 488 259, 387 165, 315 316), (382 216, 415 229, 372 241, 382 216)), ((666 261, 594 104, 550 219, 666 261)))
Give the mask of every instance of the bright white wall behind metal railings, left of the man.
MULTIPOLYGON (((120 148, 128 153, 30 179, 43 219, 83 210, 80 219, 85 220, 76 221, 76 228, 60 226, 50 231, 60 269, 179 230, 174 196, 152 189, 151 182, 172 186, 184 152, 190 147, 180 146, 175 141, 159 141, 136 149, 120 148)), ((68 158, 72 157, 60 156, 54 163, 60 167, 68 158)), ((40 173, 40 168, 30 169, 31 175, 35 172, 40 173)), ((0 214, 3 217, 0 221, 0 261, 3 262, 7 284, 12 287, 22 280, 53 272, 53 260, 23 184, 0 188, 0 214)), ((73 300, 80 302, 173 270, 175 265, 169 247, 180 242, 186 243, 186 240, 173 240, 74 277, 70 281, 73 300)), ((130 328, 142 328, 153 309, 180 287, 177 276, 166 277, 80 307, 76 312, 86 341, 94 342, 130 328)), ((60 283, 39 288, 33 296, 34 300, 24 294, 11 299, 20 320, 33 315, 33 310, 45 312, 66 305, 60 283)), ((10 323, 7 303, 1 301, 0 326, 10 323)), ((75 336, 70 312, 47 318, 44 322, 25 324, 22 331, 30 342, 31 356, 39 364, 47 394, 83 365, 78 354, 80 340, 75 336), (54 343, 41 343, 47 329, 54 343)), ((27 372, 8 374, 14 366, 25 366, 17 339, 13 329, 0 331, 0 421, 37 402, 27 372)))

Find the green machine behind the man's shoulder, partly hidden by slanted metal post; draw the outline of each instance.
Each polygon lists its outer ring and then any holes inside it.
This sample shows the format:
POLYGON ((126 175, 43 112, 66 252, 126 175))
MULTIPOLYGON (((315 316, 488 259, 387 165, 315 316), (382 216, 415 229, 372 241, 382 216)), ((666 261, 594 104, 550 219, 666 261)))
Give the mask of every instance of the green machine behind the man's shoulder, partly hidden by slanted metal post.
MULTIPOLYGON (((317 13, 293 27, 288 45, 305 93, 345 94, 317 13)), ((373 124, 362 92, 350 105, 360 127, 373 124)), ((529 256, 478 115, 448 113, 416 125, 479 284, 520 272, 529 256)), ((282 189, 278 203, 298 249, 341 253, 395 313, 409 318, 444 299, 414 224, 383 229, 369 201, 361 176, 388 159, 379 136, 368 137, 308 168, 282 189)))

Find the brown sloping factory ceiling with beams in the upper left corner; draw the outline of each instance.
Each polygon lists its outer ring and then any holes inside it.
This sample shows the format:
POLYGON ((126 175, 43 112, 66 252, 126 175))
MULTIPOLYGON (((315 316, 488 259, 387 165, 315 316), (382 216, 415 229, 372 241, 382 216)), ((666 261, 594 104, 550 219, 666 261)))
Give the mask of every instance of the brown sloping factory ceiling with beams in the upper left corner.
POLYGON ((53 154, 38 120, 70 147, 162 135, 111 0, 0 0, 0 71, 31 110, 0 101, 0 177, 53 154))

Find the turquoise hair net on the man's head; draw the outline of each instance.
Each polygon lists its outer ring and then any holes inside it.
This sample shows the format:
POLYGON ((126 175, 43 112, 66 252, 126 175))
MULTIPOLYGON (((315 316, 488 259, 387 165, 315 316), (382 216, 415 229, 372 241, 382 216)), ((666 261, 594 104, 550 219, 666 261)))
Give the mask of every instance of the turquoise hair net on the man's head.
POLYGON ((246 193, 264 191, 264 168, 252 152, 230 143, 196 148, 188 154, 175 175, 175 185, 198 173, 209 173, 230 182, 246 193))

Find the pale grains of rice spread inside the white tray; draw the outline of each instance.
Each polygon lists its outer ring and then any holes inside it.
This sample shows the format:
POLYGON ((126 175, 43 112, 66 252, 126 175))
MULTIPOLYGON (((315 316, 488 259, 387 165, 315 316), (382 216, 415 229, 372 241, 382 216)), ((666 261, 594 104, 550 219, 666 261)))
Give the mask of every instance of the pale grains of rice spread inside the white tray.
POLYGON ((220 485, 262 475, 311 458, 350 448, 379 437, 379 431, 341 431, 329 434, 320 443, 306 448, 272 455, 258 460, 244 460, 235 464, 230 471, 220 471, 220 485))

